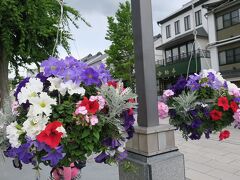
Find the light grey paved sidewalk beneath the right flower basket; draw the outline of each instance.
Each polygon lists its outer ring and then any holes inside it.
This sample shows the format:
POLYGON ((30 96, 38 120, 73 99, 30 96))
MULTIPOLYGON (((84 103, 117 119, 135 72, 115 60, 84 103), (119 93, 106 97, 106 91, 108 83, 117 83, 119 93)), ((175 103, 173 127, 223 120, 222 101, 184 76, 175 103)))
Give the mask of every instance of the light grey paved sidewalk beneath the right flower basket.
POLYGON ((176 144, 184 154, 186 176, 191 180, 240 180, 240 130, 228 128, 231 137, 185 141, 175 133, 176 144))

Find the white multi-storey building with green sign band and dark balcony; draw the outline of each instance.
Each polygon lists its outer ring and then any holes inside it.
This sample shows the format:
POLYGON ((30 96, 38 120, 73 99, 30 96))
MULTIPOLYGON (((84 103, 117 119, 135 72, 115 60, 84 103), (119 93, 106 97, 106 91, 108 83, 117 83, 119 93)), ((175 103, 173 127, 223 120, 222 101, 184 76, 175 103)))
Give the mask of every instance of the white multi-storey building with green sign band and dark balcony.
POLYGON ((208 22, 204 16, 208 11, 202 7, 207 1, 190 1, 158 22, 161 25, 162 44, 157 49, 162 50, 163 54, 157 69, 161 80, 159 92, 180 75, 211 67, 207 51, 208 22), (194 34, 197 41, 194 41, 194 34))

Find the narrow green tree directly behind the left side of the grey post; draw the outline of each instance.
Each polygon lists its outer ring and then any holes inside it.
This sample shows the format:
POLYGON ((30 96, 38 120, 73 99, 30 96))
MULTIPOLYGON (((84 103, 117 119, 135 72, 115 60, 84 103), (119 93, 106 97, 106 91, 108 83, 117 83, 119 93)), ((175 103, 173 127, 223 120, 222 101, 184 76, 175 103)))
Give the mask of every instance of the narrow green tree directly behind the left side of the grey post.
POLYGON ((134 87, 134 46, 129 1, 120 3, 115 17, 108 17, 106 40, 112 42, 105 52, 108 54, 107 65, 113 77, 122 79, 127 86, 134 87))

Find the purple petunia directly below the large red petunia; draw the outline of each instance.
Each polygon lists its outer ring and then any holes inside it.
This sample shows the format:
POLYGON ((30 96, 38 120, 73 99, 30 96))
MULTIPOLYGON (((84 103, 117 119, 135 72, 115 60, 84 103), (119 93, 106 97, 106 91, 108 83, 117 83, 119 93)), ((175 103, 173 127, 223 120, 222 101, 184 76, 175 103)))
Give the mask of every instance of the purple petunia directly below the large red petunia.
POLYGON ((50 161, 52 167, 56 166, 58 162, 64 158, 62 153, 63 146, 56 147, 56 149, 49 148, 48 154, 41 158, 42 161, 50 161))

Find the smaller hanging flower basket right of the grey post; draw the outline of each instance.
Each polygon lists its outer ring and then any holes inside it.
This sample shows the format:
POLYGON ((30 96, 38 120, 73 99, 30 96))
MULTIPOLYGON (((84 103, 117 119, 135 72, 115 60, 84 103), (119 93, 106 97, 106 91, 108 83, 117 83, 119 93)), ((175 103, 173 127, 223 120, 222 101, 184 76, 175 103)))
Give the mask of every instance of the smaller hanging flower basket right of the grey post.
POLYGON ((230 136, 223 130, 232 123, 240 127, 240 89, 223 79, 214 70, 203 70, 180 77, 176 84, 164 91, 159 103, 160 117, 170 116, 170 124, 182 132, 187 140, 220 132, 219 139, 230 136), (160 105, 161 104, 161 105, 160 105))

